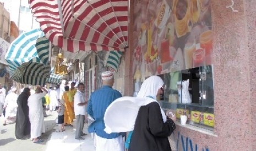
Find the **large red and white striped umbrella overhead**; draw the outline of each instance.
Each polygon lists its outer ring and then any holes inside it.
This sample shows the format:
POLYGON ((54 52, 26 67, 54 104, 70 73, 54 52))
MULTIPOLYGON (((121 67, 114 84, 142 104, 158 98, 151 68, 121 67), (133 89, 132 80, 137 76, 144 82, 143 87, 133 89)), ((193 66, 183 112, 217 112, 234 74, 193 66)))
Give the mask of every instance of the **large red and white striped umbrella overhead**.
POLYGON ((29 0, 40 28, 64 51, 124 51, 128 0, 29 0))

